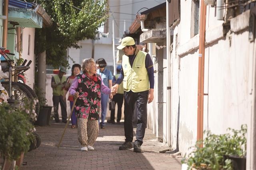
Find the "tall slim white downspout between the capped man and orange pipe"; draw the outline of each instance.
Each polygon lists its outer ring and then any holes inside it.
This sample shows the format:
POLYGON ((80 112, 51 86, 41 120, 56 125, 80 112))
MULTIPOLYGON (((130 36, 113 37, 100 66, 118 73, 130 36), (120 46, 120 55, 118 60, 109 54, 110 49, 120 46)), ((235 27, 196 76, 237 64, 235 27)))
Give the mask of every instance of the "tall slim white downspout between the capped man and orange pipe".
POLYGON ((167 80, 166 80, 166 141, 168 142, 168 145, 171 145, 171 37, 170 37, 170 27, 169 27, 169 2, 166 0, 166 61, 167 61, 167 80))

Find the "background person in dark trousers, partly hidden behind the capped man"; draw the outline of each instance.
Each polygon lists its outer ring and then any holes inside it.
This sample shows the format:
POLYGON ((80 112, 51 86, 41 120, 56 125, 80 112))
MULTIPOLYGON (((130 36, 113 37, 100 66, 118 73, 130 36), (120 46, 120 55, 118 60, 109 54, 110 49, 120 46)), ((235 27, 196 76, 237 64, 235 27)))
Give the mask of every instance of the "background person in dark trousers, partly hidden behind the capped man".
MULTIPOLYGON (((121 72, 121 65, 118 65, 116 67, 116 75, 113 76, 113 80, 112 80, 112 85, 116 84, 116 80, 118 79, 120 72, 121 72)), ((117 103, 117 119, 116 119, 116 124, 120 124, 120 120, 122 117, 122 105, 124 102, 124 88, 123 88, 123 82, 119 85, 118 87, 118 91, 116 93, 116 95, 113 96, 112 101, 115 102, 115 105, 117 103)), ((111 114, 110 114, 110 120, 108 120, 108 123, 112 123, 115 124, 115 109, 111 110, 111 114)))

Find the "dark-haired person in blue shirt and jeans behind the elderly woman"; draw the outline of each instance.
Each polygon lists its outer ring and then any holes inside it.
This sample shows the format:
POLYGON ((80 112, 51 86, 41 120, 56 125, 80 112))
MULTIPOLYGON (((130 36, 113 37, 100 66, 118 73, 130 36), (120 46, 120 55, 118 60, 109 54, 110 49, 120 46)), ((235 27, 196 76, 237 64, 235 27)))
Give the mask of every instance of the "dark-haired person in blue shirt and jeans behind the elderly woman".
MULTIPOLYGON (((112 87, 112 73, 110 70, 106 69, 107 63, 104 58, 99 58, 96 60, 96 64, 98 64, 99 69, 97 69, 97 74, 99 74, 102 78, 103 83, 108 87, 112 87)), ((101 93, 101 122, 100 128, 105 128, 105 119, 106 119, 106 112, 107 112, 107 106, 108 106, 108 100, 113 98, 113 95, 106 95, 104 93, 101 93)))

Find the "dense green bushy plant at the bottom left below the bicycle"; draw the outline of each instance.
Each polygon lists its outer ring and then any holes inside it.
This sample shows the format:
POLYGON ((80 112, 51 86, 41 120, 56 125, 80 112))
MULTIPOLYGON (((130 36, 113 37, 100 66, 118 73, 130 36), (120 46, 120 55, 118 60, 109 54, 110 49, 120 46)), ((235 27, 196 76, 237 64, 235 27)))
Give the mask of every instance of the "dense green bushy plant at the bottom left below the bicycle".
POLYGON ((8 160, 17 160, 22 152, 26 153, 34 137, 35 128, 30 122, 33 109, 28 110, 29 104, 23 108, 7 103, 0 105, 0 153, 8 160))

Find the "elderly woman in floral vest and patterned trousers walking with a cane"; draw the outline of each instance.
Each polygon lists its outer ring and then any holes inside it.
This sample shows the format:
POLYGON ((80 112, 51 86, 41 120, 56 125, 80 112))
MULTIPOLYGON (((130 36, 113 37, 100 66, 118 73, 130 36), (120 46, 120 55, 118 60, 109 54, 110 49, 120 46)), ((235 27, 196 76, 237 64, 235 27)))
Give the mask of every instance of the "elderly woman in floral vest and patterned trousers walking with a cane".
POLYGON ((111 91, 104 85, 100 75, 96 74, 96 63, 92 58, 82 61, 82 70, 83 73, 76 75, 69 92, 77 99, 74 108, 78 119, 78 141, 81 144, 81 151, 87 151, 94 150, 92 146, 98 136, 100 92, 111 94, 111 91))

